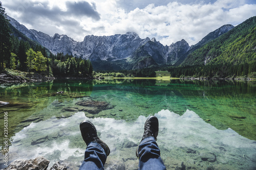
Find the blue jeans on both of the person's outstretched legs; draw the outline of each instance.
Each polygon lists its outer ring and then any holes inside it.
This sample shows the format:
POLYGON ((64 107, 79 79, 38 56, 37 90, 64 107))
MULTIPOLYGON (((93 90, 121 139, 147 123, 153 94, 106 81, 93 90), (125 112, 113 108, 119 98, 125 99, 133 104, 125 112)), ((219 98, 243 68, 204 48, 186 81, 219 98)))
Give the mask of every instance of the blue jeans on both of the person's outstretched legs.
MULTIPOLYGON (((154 137, 143 139, 138 147, 139 169, 166 169, 160 157, 160 150, 154 137)), ((89 143, 84 161, 79 170, 83 169, 104 169, 106 154, 96 142, 89 143)))

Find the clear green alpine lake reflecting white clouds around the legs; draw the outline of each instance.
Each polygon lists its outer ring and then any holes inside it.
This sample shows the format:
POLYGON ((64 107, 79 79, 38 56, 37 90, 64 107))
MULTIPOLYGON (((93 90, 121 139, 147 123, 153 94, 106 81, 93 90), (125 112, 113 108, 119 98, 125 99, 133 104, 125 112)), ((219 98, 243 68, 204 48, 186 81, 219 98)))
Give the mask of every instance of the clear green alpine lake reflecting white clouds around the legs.
POLYGON ((256 169, 256 82, 191 80, 52 80, 1 84, 1 160, 44 156, 78 169, 79 124, 90 120, 111 153, 105 169, 138 169, 136 148, 150 115, 167 169, 256 169), (8 135, 4 118, 8 114, 8 135))

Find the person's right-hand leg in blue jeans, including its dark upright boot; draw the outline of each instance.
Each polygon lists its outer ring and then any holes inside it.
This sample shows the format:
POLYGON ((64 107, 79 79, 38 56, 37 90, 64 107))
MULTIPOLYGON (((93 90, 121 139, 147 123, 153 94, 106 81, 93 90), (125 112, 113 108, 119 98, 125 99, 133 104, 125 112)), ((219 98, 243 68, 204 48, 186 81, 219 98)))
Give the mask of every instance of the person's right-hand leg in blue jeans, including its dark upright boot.
POLYGON ((139 169, 166 169, 156 143, 158 135, 158 119, 149 117, 144 125, 144 134, 136 155, 139 158, 139 169))

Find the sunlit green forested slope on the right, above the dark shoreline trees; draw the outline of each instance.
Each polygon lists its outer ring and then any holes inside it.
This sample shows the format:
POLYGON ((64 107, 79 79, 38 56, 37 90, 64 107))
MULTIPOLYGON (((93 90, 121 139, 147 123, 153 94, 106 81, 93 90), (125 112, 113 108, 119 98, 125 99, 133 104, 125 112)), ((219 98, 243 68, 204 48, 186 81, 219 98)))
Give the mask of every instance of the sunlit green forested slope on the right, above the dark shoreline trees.
POLYGON ((255 52, 256 16, 191 53, 182 65, 249 64, 255 52))

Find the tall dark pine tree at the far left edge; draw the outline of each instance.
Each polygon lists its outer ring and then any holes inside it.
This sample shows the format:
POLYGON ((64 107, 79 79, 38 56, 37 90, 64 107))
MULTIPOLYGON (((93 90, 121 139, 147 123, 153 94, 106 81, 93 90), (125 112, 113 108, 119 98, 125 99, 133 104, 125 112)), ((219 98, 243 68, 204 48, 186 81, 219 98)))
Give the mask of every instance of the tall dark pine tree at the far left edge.
POLYGON ((9 21, 6 19, 5 8, 3 8, 0 2, 0 70, 2 70, 5 65, 10 66, 11 57, 11 36, 9 21))

